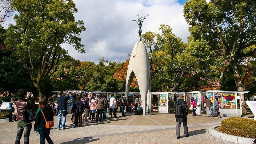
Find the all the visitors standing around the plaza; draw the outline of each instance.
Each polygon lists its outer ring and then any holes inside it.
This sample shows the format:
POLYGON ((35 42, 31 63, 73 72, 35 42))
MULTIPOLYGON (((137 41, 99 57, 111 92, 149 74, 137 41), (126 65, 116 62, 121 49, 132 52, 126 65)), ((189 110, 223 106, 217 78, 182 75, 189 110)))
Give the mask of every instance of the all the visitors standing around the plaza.
MULTIPOLYGON (((24 89, 18 90, 18 101, 11 100, 9 103, 9 122, 18 121, 18 132, 15 143, 20 143, 20 139, 24 132, 24 143, 29 143, 30 131, 32 128, 32 123, 34 124, 34 131, 40 135, 40 143, 44 143, 45 139, 49 144, 52 144, 53 141, 50 138, 50 130, 54 126, 54 116, 58 116, 57 120, 57 130, 65 130, 66 116, 68 114, 67 102, 70 100, 70 97, 65 96, 63 91, 58 93, 59 97, 57 98, 57 103, 55 105, 53 96, 48 98, 40 98, 38 109, 36 114, 33 110, 36 108, 34 102, 34 96, 32 93, 27 92, 24 89), (18 119, 18 120, 16 120, 18 119)), ((178 102, 175 103, 175 117, 176 117, 176 135, 177 138, 180 138, 180 127, 183 123, 185 137, 188 137, 188 127, 187 127, 187 114, 188 114, 188 103, 183 101, 184 96, 180 95, 178 97, 178 102)), ((138 107, 141 106, 141 100, 138 98, 138 95, 135 95, 134 102, 125 97, 125 94, 122 94, 120 99, 116 99, 114 94, 111 94, 111 98, 108 99, 107 94, 102 95, 93 94, 90 98, 88 94, 82 94, 81 91, 78 91, 76 94, 72 94, 73 106, 71 109, 72 117, 71 121, 75 127, 82 127, 83 122, 102 122, 102 119, 105 120, 107 113, 109 112, 110 118, 117 118, 116 112, 118 106, 120 106, 120 112, 122 116, 125 116, 125 108, 127 112, 135 112, 137 114, 138 107), (96 118, 95 118, 96 113, 96 118), (114 115, 114 117, 113 117, 114 115), (90 120, 88 120, 88 118, 90 120)), ((210 99, 205 97, 205 106, 207 108, 207 117, 211 117, 211 106, 212 102, 210 99)), ((191 98, 190 110, 192 110, 192 116, 196 116, 196 101, 194 98, 191 98)), ((216 117, 221 117, 218 111, 218 98, 214 102, 216 117)))

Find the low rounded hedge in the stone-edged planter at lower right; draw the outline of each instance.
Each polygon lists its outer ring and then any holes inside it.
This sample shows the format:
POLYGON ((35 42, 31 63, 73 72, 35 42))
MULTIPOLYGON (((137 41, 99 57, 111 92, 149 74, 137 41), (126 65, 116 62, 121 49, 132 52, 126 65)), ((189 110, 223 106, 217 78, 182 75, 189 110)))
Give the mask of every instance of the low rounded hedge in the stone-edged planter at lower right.
POLYGON ((248 118, 231 117, 221 122, 221 132, 239 137, 255 138, 256 121, 248 118))

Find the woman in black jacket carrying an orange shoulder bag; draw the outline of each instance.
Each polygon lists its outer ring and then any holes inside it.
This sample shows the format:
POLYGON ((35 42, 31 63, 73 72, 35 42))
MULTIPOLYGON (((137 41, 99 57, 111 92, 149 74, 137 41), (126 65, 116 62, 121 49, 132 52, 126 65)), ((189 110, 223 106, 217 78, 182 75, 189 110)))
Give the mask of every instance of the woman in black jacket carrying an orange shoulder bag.
POLYGON ((50 138, 50 129, 46 129, 45 121, 53 121, 53 111, 52 108, 48 105, 47 101, 45 98, 39 99, 39 106, 36 112, 36 120, 35 120, 35 125, 34 125, 34 130, 36 133, 39 132, 40 135, 40 144, 44 144, 44 139, 49 144, 53 144, 51 138, 50 138), (45 119, 44 119, 44 116, 45 119))

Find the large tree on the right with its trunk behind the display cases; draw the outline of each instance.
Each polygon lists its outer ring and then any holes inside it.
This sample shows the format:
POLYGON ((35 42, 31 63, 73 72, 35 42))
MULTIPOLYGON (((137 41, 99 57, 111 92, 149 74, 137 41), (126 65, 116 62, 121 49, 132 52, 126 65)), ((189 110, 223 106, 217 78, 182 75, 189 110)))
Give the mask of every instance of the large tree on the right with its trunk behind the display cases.
MULTIPOLYGON (((241 63, 255 55, 255 0, 190 0, 184 5, 184 17, 195 39, 204 38, 212 50, 222 54, 223 72, 234 79, 238 91, 243 91, 241 63)), ((243 113, 246 113, 242 97, 243 113)))

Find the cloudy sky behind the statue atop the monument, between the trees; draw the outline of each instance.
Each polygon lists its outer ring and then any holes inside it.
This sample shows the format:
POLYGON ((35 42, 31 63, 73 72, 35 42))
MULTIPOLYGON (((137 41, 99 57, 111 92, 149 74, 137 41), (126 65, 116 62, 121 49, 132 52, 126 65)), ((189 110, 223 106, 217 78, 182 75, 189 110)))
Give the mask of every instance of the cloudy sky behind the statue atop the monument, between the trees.
MULTIPOLYGON (((183 17, 186 0, 74 0, 77 20, 83 20, 86 31, 81 33, 86 54, 80 54, 65 44, 63 47, 75 59, 97 63, 99 57, 109 61, 125 61, 139 40, 137 14, 149 14, 142 25, 142 34, 158 33, 161 24, 172 27, 173 33, 187 41, 188 24, 183 17)), ((9 20, 8 23, 13 23, 9 20)))

